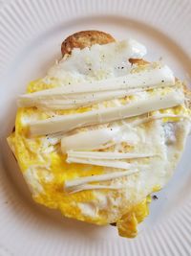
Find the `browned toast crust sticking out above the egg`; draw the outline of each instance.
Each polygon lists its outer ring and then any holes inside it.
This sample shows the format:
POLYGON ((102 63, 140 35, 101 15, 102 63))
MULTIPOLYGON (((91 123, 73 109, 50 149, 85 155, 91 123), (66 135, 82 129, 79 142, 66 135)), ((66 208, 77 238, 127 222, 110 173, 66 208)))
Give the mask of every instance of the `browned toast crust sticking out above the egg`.
POLYGON ((115 42, 112 35, 101 31, 81 31, 67 37, 61 45, 62 56, 71 54, 74 48, 83 49, 91 47, 94 44, 106 44, 115 42))

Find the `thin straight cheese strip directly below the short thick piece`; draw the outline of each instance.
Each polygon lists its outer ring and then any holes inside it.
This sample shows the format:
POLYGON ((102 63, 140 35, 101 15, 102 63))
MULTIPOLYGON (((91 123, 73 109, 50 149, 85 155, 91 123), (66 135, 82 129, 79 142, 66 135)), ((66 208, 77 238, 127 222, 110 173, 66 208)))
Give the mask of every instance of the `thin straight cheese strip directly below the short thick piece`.
POLYGON ((132 159, 153 157, 154 152, 138 153, 138 152, 112 152, 112 151, 67 151, 68 157, 91 158, 91 159, 132 159))

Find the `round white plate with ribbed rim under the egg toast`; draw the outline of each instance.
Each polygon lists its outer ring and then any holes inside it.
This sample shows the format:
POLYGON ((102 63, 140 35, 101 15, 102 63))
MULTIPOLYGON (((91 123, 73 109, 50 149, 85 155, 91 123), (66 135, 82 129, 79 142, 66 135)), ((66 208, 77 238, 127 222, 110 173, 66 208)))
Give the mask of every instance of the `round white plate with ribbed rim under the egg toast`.
POLYGON ((80 30, 135 37, 147 46, 147 59, 163 58, 189 81, 191 1, 15 0, 0 10, 0 17, 0 256, 190 255, 190 140, 138 238, 127 240, 112 226, 68 220, 32 202, 5 138, 13 127, 18 93, 45 74, 60 58, 62 40, 80 30))

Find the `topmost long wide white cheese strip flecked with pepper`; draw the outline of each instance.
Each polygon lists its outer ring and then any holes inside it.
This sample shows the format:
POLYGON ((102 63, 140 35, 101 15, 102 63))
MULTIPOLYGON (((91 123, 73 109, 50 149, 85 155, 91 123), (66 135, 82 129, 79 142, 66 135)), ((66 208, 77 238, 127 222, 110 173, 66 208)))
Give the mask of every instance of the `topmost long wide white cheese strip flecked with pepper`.
POLYGON ((175 78, 168 66, 156 67, 102 81, 71 84, 19 96, 19 106, 52 109, 76 108, 135 94, 142 89, 172 86, 175 78), (136 90, 137 89, 137 90, 136 90))

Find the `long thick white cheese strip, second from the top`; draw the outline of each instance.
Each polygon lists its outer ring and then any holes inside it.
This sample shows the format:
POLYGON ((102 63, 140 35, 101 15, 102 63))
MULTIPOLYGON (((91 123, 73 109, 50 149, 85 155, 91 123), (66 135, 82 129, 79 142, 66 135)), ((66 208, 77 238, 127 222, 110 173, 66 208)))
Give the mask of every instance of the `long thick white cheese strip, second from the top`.
POLYGON ((165 95, 153 95, 149 98, 132 102, 128 105, 108 107, 84 113, 55 116, 46 120, 32 121, 29 124, 32 135, 51 134, 58 131, 67 132, 74 128, 110 123, 113 121, 138 116, 150 111, 182 104, 183 94, 172 91, 165 95))

